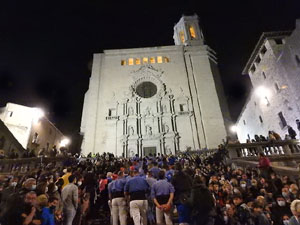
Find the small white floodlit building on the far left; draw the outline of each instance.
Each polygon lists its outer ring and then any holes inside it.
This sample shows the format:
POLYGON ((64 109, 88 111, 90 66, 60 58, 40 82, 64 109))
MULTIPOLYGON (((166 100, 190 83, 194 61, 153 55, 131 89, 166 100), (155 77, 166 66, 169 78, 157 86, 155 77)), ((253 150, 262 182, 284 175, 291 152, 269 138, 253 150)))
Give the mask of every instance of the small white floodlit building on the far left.
POLYGON ((54 145, 57 149, 64 147, 62 145, 66 138, 39 108, 7 103, 0 108, 0 120, 24 149, 35 149, 38 152, 42 148, 49 150, 54 145))

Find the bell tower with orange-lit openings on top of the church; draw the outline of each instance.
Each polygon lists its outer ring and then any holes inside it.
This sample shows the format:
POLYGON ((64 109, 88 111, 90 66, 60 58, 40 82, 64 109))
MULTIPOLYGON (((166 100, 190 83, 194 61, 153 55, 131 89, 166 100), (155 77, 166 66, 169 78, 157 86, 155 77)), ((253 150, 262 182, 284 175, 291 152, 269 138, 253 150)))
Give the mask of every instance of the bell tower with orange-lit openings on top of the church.
POLYGON ((198 16, 182 16, 174 26, 175 45, 203 45, 203 34, 199 27, 198 16))

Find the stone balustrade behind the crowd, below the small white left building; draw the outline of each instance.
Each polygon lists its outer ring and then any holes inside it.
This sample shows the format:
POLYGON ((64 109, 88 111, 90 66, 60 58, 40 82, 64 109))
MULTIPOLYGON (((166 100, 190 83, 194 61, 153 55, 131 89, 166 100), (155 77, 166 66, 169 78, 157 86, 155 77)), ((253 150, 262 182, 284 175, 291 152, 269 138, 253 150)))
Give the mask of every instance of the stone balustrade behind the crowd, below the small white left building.
POLYGON ((0 173, 27 173, 49 163, 52 163, 53 166, 62 165, 66 160, 68 160, 67 157, 0 159, 0 173))

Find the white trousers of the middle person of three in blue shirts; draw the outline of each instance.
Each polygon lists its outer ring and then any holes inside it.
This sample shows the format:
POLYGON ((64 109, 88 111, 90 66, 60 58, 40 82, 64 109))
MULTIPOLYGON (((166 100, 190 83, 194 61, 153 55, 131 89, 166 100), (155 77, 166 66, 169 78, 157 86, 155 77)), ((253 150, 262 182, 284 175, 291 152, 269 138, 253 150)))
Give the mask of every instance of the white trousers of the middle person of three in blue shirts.
POLYGON ((147 225, 147 200, 133 200, 130 202, 130 215, 134 225, 147 225))

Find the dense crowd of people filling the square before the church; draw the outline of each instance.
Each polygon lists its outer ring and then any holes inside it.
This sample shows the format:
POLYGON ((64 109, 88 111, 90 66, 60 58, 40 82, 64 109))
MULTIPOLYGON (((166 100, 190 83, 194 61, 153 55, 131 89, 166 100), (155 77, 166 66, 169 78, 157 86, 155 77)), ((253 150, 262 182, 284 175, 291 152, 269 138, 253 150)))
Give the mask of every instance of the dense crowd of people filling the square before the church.
POLYGON ((102 154, 0 176, 1 225, 294 225, 298 180, 227 163, 226 150, 149 155, 102 154))

